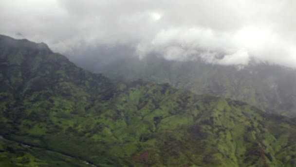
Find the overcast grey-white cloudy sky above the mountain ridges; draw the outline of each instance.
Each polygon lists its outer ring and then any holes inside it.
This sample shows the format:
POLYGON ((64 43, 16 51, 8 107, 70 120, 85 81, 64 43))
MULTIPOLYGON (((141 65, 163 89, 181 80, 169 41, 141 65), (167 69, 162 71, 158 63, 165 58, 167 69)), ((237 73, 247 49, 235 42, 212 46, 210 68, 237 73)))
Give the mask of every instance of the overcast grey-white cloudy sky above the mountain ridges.
POLYGON ((295 0, 0 0, 0 34, 83 59, 87 50, 126 46, 140 58, 295 68, 295 6, 295 0))

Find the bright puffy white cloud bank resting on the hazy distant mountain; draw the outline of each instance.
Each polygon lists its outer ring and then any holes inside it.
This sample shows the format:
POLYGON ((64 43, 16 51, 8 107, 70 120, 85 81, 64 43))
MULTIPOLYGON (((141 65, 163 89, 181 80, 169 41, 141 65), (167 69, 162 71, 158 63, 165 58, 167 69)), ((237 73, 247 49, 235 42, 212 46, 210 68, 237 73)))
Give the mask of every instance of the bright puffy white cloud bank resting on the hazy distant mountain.
POLYGON ((286 45, 276 34, 259 28, 244 27, 235 32, 215 32, 209 28, 183 27, 162 30, 152 37, 151 42, 140 43, 137 53, 143 57, 156 52, 169 60, 198 57, 207 63, 222 65, 246 65, 254 58, 257 61, 293 66, 296 64, 292 59, 295 52, 286 45), (284 60, 280 55, 288 59, 284 60))

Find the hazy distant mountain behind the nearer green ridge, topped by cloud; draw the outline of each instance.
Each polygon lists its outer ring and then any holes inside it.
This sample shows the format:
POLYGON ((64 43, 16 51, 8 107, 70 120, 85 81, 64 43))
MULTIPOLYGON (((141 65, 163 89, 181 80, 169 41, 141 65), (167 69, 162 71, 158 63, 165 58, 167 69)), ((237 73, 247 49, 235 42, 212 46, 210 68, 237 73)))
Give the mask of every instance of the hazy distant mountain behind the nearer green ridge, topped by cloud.
MULTIPOLYGON (((100 55, 97 55, 100 57, 100 55)), ((92 62, 94 58, 92 58, 92 62)), ((101 58, 102 59, 102 58, 101 58)), ((139 59, 126 56, 108 64, 86 66, 111 78, 145 81, 240 100, 274 114, 296 116, 296 70, 267 63, 245 67, 223 66, 202 61, 168 61, 156 56, 139 59)))

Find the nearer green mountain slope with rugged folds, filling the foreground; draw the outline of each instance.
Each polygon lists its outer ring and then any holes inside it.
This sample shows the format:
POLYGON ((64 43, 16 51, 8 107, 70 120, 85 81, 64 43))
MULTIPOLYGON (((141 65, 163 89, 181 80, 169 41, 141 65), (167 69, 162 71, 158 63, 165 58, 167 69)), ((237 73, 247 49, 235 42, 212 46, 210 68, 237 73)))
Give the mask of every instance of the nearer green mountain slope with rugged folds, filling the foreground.
POLYGON ((295 119, 242 101, 110 80, 7 36, 0 69, 0 165, 296 165, 295 119))

